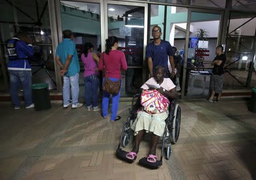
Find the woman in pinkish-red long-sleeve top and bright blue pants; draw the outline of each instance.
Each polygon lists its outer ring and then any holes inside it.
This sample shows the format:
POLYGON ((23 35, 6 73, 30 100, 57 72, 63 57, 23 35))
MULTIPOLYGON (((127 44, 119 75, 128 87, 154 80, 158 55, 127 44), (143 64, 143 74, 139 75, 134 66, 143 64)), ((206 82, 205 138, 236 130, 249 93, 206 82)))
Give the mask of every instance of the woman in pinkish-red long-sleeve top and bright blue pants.
MULTIPOLYGON (((121 50, 117 50, 117 48, 117 37, 110 36, 108 39, 106 39, 106 49, 105 52, 101 54, 100 63, 98 65, 98 68, 100 70, 104 70, 108 78, 114 82, 122 79, 121 70, 127 70, 125 54, 121 50)), ((102 83, 104 83, 104 80, 105 78, 103 78, 102 83)), ((108 92, 103 91, 102 116, 104 118, 108 117, 109 96, 110 94, 108 92)), ((121 118, 117 116, 119 97, 120 90, 116 95, 112 95, 112 115, 110 117, 111 122, 117 121, 121 118)))

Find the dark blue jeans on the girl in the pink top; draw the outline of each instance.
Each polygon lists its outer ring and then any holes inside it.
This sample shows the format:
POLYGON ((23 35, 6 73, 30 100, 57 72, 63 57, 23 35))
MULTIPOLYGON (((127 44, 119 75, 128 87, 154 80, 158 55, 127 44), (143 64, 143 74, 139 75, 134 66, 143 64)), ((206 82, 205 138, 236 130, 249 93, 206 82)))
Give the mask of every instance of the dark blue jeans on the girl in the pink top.
POLYGON ((86 106, 90 107, 93 104, 93 107, 98 106, 98 85, 100 83, 100 78, 98 75, 93 74, 84 78, 85 85, 85 102, 86 106))

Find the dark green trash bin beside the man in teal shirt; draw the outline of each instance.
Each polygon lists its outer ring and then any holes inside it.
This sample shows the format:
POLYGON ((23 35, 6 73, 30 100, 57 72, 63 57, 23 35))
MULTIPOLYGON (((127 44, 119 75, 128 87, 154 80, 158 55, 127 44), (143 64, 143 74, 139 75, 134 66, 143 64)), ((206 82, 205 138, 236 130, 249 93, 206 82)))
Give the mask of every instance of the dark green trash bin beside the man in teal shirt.
POLYGON ((48 87, 47 83, 32 84, 35 110, 47 110, 52 107, 48 87))

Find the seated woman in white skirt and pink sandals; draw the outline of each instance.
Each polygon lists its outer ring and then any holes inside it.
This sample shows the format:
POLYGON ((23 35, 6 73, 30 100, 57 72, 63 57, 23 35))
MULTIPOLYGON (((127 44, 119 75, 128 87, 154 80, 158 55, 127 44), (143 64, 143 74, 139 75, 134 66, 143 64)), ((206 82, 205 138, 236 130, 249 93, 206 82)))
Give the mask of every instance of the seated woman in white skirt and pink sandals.
MULTIPOLYGON (((176 86, 172 83, 170 78, 164 78, 165 73, 165 67, 157 66, 155 68, 154 78, 148 79, 147 82, 142 85, 142 91, 152 89, 150 88, 152 85, 160 84, 160 88, 155 89, 156 91, 168 99, 177 98, 178 93, 176 91, 176 86)), ((156 101, 158 101, 158 103, 162 102, 159 99, 156 99, 156 101)), ((126 154, 126 158, 127 160, 134 161, 137 157, 139 144, 141 143, 144 133, 152 132, 150 152, 146 160, 149 163, 155 163, 157 161, 156 145, 158 144, 160 136, 163 136, 164 134, 164 127, 166 125, 165 119, 168 117, 169 112, 168 108, 166 108, 164 112, 156 112, 155 114, 148 113, 146 110, 145 107, 138 110, 137 118, 131 126, 134 131, 135 142, 131 152, 126 154)))

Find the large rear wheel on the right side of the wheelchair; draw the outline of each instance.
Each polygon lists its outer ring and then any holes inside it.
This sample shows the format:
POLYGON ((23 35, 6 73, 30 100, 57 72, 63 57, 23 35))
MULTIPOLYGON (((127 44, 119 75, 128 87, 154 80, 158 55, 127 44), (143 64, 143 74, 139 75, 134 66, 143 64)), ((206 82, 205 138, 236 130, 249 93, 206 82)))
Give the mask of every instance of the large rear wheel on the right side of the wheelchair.
POLYGON ((174 121, 172 122, 172 132, 170 136, 170 140, 172 144, 176 144, 180 135, 181 110, 179 105, 176 105, 174 115, 175 115, 175 118, 174 118, 174 121))

